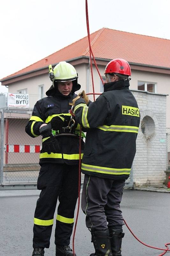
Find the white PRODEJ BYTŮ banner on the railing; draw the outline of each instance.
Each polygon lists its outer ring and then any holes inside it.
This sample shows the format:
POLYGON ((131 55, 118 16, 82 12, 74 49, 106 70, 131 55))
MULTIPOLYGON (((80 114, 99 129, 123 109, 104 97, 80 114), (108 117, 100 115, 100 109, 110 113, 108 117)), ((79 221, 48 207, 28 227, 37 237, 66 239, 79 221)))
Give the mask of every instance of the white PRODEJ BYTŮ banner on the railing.
POLYGON ((8 107, 29 108, 29 94, 8 92, 8 107))

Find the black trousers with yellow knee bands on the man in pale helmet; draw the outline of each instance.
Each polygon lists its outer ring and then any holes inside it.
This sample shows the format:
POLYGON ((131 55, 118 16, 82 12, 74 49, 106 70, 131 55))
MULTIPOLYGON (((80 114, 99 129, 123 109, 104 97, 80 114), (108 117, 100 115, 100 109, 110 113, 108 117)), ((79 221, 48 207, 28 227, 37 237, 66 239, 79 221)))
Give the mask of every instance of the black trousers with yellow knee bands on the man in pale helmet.
POLYGON ((37 188, 41 193, 34 214, 33 248, 49 248, 57 199, 55 244, 70 244, 78 198, 78 165, 42 164, 37 188))

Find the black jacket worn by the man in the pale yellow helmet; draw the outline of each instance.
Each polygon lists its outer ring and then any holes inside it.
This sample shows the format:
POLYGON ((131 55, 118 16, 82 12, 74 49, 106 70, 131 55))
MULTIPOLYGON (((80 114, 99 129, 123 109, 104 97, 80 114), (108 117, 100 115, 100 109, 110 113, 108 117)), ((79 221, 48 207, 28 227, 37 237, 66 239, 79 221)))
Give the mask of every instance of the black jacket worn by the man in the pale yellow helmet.
MULTIPOLYGON (((26 125, 26 133, 33 138, 40 135, 41 124, 48 124, 54 116, 67 115, 71 117, 70 108, 72 107, 72 100, 77 97, 77 94, 75 94, 74 91, 68 96, 64 96, 58 90, 56 91, 56 89, 53 89, 53 87, 50 87, 46 94, 48 97, 36 102, 33 108, 33 114, 26 125)), ((80 125, 76 124, 74 130, 71 131, 72 133, 55 131, 53 134, 56 133, 55 138, 58 140, 60 150, 51 154, 48 154, 47 152, 40 153, 39 163, 65 163, 77 165, 79 163, 79 130, 80 125)), ((82 158, 84 149, 83 140, 81 144, 82 158)))

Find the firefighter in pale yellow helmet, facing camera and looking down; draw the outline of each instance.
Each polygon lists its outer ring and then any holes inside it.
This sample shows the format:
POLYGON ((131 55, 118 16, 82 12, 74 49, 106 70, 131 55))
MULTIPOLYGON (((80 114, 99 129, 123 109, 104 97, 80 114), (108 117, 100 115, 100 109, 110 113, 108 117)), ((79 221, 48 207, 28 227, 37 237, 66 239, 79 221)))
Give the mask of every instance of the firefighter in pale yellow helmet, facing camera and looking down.
POLYGON ((32 256, 43 256, 44 248, 49 248, 57 199, 55 255, 72 256, 69 244, 78 198, 79 136, 83 150, 84 133, 80 134, 80 126, 71 118, 70 108, 80 84, 75 68, 65 61, 54 70, 50 65, 49 76, 52 86, 46 92, 48 97, 36 102, 26 125, 31 137, 42 135, 37 180, 41 193, 34 214, 32 256))

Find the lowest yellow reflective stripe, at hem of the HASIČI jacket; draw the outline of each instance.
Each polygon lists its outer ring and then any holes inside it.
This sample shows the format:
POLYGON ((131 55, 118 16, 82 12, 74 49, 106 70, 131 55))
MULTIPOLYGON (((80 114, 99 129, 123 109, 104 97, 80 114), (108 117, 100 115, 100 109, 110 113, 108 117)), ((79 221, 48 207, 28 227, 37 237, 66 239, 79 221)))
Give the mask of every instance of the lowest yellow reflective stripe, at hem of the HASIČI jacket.
POLYGON ((130 174, 129 168, 109 168, 109 167, 102 167, 96 165, 89 165, 89 164, 81 164, 81 169, 89 172, 98 172, 98 173, 107 173, 107 174, 130 174))

